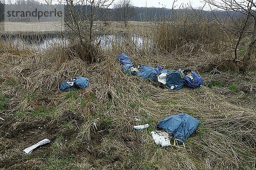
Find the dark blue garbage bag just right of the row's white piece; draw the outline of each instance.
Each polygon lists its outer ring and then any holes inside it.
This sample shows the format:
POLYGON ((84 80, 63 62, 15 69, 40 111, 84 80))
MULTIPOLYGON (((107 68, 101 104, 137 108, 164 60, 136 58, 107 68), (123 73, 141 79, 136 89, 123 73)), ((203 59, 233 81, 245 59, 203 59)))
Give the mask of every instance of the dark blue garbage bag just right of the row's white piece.
POLYGON ((180 90, 185 82, 184 74, 179 69, 166 74, 166 86, 173 90, 180 90))

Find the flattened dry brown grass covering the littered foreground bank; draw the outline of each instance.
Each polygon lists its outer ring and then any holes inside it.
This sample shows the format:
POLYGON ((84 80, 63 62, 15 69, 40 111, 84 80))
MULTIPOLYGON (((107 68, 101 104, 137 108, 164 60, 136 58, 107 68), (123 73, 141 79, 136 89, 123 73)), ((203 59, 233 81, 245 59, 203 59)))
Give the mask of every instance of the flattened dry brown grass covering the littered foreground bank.
POLYGON ((0 120, 0 168, 255 168, 255 76, 208 74, 210 55, 196 59, 150 55, 125 46, 104 51, 98 63, 88 64, 79 57, 60 59, 67 52, 60 55, 55 49, 34 55, 23 50, 0 54, 0 117, 5 119, 0 120), (120 52, 127 52, 135 65, 193 68, 207 87, 171 91, 159 83, 125 75, 116 61, 120 52), (72 92, 58 89, 64 79, 77 76, 87 77, 89 87, 72 92), (231 91, 230 84, 239 89, 231 91), (202 123, 185 142, 186 149, 156 146, 150 131, 161 119, 177 113, 188 113, 202 123), (135 122, 135 117, 142 121, 135 122), (151 126, 133 129, 144 123, 151 126), (51 143, 29 156, 21 154, 44 138, 51 143))

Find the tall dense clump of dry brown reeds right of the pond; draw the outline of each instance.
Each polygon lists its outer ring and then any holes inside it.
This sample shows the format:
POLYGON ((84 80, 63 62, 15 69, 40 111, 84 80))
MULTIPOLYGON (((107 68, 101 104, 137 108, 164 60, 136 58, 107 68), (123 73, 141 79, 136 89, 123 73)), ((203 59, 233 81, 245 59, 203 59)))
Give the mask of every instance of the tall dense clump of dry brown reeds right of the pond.
POLYGON ((175 54, 217 52, 220 45, 215 42, 222 40, 221 31, 200 17, 191 17, 191 13, 186 11, 183 15, 174 15, 175 21, 164 21, 157 25, 154 33, 156 48, 175 54))

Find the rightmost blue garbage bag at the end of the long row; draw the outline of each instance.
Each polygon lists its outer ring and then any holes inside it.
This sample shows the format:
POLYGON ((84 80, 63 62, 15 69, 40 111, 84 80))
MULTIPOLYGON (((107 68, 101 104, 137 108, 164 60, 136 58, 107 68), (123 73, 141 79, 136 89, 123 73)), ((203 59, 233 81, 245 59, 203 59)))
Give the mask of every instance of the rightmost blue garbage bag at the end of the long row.
POLYGON ((201 76, 191 70, 184 70, 185 83, 184 85, 189 88, 199 88, 200 85, 204 85, 204 81, 201 76))

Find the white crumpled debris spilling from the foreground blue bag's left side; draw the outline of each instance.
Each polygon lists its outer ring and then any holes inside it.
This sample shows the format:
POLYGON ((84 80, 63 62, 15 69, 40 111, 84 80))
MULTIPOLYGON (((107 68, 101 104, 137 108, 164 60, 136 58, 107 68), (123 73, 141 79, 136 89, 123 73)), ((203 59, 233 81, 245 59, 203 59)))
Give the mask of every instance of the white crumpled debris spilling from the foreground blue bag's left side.
POLYGON ((161 144, 162 147, 171 145, 169 133, 156 130, 152 131, 151 135, 156 144, 161 144))

